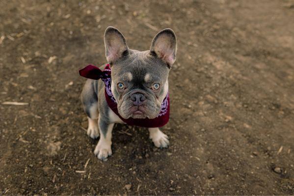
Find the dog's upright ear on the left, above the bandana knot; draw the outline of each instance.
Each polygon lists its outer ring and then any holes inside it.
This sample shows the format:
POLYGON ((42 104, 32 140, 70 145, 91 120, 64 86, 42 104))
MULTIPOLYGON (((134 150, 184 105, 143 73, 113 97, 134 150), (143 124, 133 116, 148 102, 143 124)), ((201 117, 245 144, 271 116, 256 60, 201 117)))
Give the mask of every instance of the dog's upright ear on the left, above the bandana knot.
POLYGON ((123 34, 112 26, 108 26, 104 34, 106 59, 108 63, 114 63, 118 59, 129 55, 129 48, 123 34))

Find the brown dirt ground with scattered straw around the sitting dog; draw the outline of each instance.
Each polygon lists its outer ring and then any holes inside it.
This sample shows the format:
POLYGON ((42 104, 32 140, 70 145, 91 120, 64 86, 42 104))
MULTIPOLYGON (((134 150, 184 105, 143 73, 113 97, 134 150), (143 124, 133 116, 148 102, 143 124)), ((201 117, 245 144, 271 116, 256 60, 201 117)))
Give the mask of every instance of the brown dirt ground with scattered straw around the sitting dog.
POLYGON ((0 195, 294 195, 294 1, 1 0, 0 195), (170 147, 115 125, 94 156, 78 70, 178 38, 170 147), (5 101, 27 105, 5 105, 5 101), (127 185, 127 186, 126 186, 127 185))

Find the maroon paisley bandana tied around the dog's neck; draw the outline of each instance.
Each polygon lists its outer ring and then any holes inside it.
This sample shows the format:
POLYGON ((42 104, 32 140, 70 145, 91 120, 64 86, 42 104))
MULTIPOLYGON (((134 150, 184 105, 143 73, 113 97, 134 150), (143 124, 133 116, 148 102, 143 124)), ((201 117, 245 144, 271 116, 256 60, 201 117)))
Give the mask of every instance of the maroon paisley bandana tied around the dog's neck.
POLYGON ((86 78, 98 80, 102 79, 105 83, 105 98, 107 100, 107 104, 110 107, 110 109, 117 115, 119 118, 129 124, 129 125, 135 125, 135 126, 142 126, 142 127, 160 127, 165 125, 169 120, 169 96, 168 93, 166 97, 163 99, 161 103, 161 110, 159 115, 154 119, 124 119, 122 118, 117 110, 117 103, 115 98, 112 95, 111 92, 111 70, 109 64, 106 65, 104 71, 101 71, 99 68, 88 65, 85 68, 81 69, 79 71, 80 75, 86 78))

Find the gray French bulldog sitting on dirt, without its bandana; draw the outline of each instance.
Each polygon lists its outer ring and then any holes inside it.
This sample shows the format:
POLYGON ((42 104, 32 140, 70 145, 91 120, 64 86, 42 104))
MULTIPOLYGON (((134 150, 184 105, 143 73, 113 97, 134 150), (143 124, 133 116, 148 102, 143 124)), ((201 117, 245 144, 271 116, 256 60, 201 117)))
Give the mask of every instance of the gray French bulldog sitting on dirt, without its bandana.
MULTIPOLYGON (((81 92, 88 116, 87 134, 93 139, 100 135, 94 154, 101 160, 112 154, 114 123, 126 123, 124 120, 128 119, 153 120, 159 116, 168 97, 168 74, 177 51, 176 35, 171 29, 160 31, 146 51, 129 49, 123 34, 114 27, 106 29, 104 42, 111 68, 109 95, 113 96, 118 113, 107 102, 106 82, 87 79, 81 92)), ((150 126, 148 130, 156 147, 168 147, 168 137, 158 127, 150 126)))

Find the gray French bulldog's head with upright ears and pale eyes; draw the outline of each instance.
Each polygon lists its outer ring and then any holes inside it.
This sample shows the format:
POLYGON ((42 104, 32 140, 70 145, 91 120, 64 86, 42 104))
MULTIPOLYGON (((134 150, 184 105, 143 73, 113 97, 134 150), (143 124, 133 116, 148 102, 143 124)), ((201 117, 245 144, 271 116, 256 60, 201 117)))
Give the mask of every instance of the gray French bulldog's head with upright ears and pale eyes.
POLYGON ((119 114, 124 119, 156 118, 168 91, 169 70, 176 60, 173 30, 160 31, 147 51, 129 49, 123 34, 114 27, 106 29, 104 42, 119 114))

